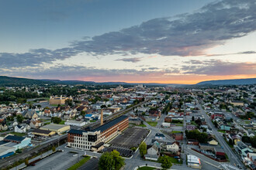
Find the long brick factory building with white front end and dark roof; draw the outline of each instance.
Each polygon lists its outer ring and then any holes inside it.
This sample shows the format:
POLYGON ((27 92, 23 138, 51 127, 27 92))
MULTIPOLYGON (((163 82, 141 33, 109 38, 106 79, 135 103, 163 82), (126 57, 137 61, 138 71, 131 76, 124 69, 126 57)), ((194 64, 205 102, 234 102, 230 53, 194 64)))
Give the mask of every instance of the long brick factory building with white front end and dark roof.
POLYGON ((128 127, 128 117, 123 115, 93 130, 71 129, 67 132, 67 147, 99 151, 102 149, 99 146, 101 142, 101 145, 103 145, 128 127))

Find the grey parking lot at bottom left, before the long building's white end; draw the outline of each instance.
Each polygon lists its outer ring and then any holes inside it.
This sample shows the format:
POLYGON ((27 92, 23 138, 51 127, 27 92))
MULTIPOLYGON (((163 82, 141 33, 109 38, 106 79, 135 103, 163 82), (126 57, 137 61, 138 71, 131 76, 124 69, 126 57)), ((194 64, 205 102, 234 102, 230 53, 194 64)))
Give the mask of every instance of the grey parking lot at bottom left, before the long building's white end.
POLYGON ((71 167, 71 165, 74 165, 78 160, 81 159, 81 157, 73 156, 74 153, 70 153, 69 151, 64 152, 56 152, 54 155, 50 155, 47 158, 44 158, 40 162, 36 162, 35 166, 29 166, 25 169, 31 169, 31 170, 62 170, 67 169, 71 167))

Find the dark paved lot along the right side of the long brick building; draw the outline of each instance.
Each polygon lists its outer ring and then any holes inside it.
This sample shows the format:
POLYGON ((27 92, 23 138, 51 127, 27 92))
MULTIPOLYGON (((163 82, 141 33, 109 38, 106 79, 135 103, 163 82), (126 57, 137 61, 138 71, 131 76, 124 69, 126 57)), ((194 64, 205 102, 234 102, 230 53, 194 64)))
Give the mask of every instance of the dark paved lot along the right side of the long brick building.
POLYGON ((123 134, 119 134, 119 136, 110 141, 109 144, 122 148, 138 147, 141 141, 146 138, 148 132, 144 128, 128 128, 126 131, 123 131, 123 134))

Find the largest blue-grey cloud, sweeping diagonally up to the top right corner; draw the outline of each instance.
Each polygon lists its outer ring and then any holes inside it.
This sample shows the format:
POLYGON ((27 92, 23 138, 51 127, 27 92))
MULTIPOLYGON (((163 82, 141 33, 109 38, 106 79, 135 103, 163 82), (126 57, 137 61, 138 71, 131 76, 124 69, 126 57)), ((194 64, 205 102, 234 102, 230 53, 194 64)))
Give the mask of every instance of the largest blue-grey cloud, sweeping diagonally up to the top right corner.
MULTIPOLYGON (((60 14, 62 16, 62 14, 60 14)), ((206 49, 256 30, 256 4, 252 0, 209 3, 196 12, 172 18, 150 19, 139 26, 82 39, 62 49, 33 49, 28 53, 0 53, 1 67, 36 66, 67 59, 78 53, 159 54, 162 56, 207 55, 206 49)), ((137 62, 135 59, 121 59, 137 62)))

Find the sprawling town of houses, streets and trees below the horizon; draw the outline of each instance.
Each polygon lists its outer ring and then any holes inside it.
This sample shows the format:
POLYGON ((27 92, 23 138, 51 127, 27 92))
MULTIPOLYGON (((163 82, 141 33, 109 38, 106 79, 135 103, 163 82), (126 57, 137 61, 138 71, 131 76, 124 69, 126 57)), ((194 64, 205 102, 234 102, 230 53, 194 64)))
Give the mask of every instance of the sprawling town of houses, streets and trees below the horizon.
POLYGON ((255 92, 255 85, 1 87, 1 169, 256 169, 255 92))

